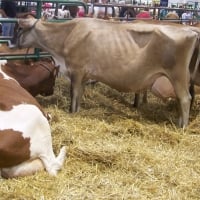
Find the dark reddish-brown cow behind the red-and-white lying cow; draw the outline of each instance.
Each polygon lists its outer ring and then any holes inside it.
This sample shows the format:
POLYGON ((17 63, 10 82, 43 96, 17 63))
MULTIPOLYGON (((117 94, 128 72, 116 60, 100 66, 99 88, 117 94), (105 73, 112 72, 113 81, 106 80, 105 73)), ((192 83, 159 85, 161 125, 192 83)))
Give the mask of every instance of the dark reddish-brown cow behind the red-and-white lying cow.
POLYGON ((59 67, 49 60, 28 63, 9 61, 2 66, 2 70, 16 79, 33 96, 49 96, 53 94, 59 67))

